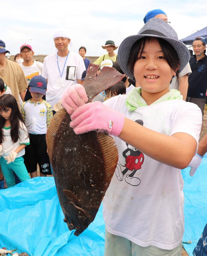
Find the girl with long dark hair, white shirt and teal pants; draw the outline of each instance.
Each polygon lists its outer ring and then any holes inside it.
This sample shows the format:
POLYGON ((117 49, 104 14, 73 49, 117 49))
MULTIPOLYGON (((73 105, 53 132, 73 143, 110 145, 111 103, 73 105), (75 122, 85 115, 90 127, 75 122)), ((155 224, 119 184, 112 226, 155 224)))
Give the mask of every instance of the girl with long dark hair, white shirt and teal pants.
POLYGON ((0 164, 7 187, 15 185, 13 172, 21 181, 29 180, 24 164, 25 147, 29 136, 16 99, 11 94, 0 98, 0 164))

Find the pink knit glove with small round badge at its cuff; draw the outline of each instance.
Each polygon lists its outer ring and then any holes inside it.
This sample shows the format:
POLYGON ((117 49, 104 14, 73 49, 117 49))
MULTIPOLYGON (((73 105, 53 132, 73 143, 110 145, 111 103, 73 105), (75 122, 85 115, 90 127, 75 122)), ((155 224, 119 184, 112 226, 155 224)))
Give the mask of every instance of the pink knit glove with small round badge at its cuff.
POLYGON ((96 131, 119 136, 125 121, 123 114, 98 101, 79 107, 70 118, 70 127, 76 134, 96 131))

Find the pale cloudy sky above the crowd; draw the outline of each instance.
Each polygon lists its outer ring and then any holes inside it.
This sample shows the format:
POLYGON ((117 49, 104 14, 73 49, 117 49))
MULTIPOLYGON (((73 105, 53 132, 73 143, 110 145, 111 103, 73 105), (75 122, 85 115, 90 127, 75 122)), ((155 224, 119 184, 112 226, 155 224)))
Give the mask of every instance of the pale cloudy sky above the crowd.
POLYGON ((153 9, 167 14, 179 39, 207 26, 206 0, 7 0, 4 5, 0 39, 10 55, 19 53, 24 43, 32 46, 35 55, 51 54, 53 33, 64 28, 73 43, 69 50, 78 53, 85 46, 85 56, 101 56, 107 53, 101 45, 113 40, 119 46, 124 38, 137 34, 153 9))

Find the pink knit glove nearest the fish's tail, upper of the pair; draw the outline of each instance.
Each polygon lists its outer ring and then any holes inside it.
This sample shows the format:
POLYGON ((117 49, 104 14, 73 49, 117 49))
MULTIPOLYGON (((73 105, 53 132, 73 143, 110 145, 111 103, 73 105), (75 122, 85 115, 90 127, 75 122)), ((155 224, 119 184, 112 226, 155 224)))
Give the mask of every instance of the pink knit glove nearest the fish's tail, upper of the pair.
POLYGON ((68 114, 88 102, 88 96, 81 84, 74 84, 68 88, 61 99, 61 105, 66 109, 68 114))

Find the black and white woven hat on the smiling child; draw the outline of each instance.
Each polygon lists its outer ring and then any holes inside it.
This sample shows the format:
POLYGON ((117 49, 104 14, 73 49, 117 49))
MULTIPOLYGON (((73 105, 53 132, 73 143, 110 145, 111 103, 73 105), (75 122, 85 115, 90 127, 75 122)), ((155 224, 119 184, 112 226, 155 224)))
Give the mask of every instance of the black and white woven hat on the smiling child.
POLYGON ((190 52, 187 47, 178 40, 178 35, 175 30, 164 20, 158 18, 152 18, 143 26, 137 35, 131 35, 125 38, 119 46, 118 50, 118 62, 123 72, 132 80, 135 81, 134 73, 130 71, 128 66, 128 59, 131 52, 131 48, 134 43, 145 36, 163 38, 168 41, 176 50, 180 60, 180 73, 190 60, 190 52))

